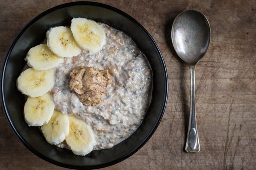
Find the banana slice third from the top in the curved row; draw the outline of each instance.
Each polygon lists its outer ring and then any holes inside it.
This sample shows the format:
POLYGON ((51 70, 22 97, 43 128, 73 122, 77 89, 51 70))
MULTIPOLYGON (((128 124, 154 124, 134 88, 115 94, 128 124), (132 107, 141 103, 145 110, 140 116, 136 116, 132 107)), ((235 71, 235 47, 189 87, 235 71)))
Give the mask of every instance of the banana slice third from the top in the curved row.
POLYGON ((39 44, 30 48, 25 58, 27 65, 37 71, 49 70, 58 66, 64 61, 63 58, 56 56, 47 46, 47 44, 39 44))

